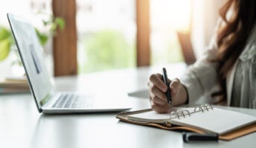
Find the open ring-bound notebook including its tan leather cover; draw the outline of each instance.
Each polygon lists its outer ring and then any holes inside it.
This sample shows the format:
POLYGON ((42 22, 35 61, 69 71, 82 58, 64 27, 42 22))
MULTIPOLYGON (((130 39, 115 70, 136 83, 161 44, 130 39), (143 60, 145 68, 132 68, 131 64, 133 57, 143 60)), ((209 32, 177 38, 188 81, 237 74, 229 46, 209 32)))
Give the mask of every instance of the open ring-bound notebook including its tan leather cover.
POLYGON ((193 108, 173 107, 170 114, 158 114, 151 109, 121 112, 116 118, 129 124, 160 129, 214 132, 226 141, 256 132, 255 116, 214 108, 208 104, 193 108))

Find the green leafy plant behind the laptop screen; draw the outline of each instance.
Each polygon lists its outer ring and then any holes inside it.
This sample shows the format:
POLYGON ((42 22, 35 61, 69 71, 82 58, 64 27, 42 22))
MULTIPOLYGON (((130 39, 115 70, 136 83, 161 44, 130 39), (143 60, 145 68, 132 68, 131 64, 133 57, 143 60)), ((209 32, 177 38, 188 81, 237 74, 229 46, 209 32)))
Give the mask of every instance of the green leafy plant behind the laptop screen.
MULTIPOLYGON (((60 28, 60 30, 63 30, 63 28, 65 27, 65 21, 61 17, 54 17, 51 15, 45 18, 47 19, 42 19, 42 23, 45 28, 48 28, 47 31, 42 32, 35 27, 36 35, 38 36, 40 44, 42 46, 47 43, 48 38, 57 35, 58 27, 60 28)), ((0 61, 3 61, 5 58, 7 58, 13 44, 15 44, 15 42, 11 31, 7 27, 0 27, 0 61)))

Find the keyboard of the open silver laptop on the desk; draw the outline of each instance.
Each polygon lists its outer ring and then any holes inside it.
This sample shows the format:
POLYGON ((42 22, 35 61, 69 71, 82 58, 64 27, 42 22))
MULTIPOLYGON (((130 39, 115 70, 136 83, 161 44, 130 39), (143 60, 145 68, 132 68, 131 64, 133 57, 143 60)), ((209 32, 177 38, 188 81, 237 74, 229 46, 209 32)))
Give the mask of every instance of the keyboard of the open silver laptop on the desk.
POLYGON ((92 98, 74 93, 62 93, 53 105, 54 108, 84 108, 92 107, 92 98))

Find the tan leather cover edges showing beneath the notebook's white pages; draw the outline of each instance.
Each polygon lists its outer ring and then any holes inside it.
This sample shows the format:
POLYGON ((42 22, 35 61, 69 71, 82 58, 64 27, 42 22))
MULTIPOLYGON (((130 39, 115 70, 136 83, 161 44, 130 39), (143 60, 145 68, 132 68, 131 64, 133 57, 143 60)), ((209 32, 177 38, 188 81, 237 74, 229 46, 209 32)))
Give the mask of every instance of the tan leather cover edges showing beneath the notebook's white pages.
MULTIPOLYGON (((194 129, 191 127, 182 127, 182 126, 176 126, 176 125, 168 125, 164 126, 164 124, 154 124, 154 123, 148 123, 148 122, 140 122, 140 121, 132 121, 127 118, 127 115, 134 115, 142 112, 150 112, 151 109, 147 110, 137 110, 132 112, 121 112, 118 115, 116 115, 116 118, 120 119, 121 121, 128 122, 130 124, 138 124, 138 125, 144 125, 149 127, 157 127, 160 129, 167 129, 167 130, 182 130, 182 131, 191 131, 191 132, 197 132, 197 133, 204 133, 202 130, 194 129)), ((234 130, 232 132, 228 132, 224 135, 220 135, 219 138, 221 140, 230 141, 234 138, 238 138, 243 135, 247 135, 249 133, 256 132, 256 124, 249 125, 247 127, 243 127, 237 130, 234 130)))

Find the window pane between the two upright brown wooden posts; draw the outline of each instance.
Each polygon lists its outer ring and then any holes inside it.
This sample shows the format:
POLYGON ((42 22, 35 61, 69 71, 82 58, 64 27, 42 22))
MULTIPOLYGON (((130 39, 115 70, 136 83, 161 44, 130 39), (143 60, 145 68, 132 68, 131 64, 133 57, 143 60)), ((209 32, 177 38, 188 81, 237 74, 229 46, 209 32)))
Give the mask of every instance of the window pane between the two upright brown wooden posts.
POLYGON ((78 73, 135 67, 135 0, 77 0, 78 73))

